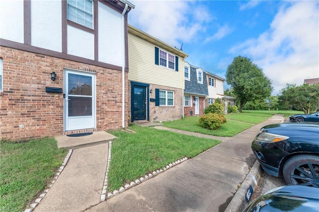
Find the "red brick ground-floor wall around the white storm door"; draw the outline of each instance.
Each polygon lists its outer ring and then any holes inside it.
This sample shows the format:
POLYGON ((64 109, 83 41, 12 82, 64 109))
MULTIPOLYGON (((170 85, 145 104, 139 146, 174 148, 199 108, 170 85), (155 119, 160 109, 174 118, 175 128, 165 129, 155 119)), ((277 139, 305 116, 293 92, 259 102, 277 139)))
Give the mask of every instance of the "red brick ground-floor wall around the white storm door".
MULTIPOLYGON (((122 128, 122 72, 45 55, 0 47, 3 91, 0 92, 0 140, 23 140, 122 128), (96 129, 63 132, 63 69, 96 73, 96 129), (56 72, 56 80, 50 73, 56 72)), ((125 74, 127 82, 127 73, 125 74)), ((126 83, 125 111, 128 84, 126 83)), ((64 91, 64 90, 63 90, 64 91)), ((126 112, 127 117, 127 112, 126 112)), ((125 125, 128 125, 128 120, 125 125)))

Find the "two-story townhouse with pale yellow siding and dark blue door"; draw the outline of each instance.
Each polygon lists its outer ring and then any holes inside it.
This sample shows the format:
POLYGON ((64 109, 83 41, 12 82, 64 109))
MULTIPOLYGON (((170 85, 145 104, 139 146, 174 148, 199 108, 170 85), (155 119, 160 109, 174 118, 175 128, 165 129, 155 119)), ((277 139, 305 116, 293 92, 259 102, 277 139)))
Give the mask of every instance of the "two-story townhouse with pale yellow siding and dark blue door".
POLYGON ((181 119, 182 51, 128 25, 129 31, 129 119, 154 122, 181 119))

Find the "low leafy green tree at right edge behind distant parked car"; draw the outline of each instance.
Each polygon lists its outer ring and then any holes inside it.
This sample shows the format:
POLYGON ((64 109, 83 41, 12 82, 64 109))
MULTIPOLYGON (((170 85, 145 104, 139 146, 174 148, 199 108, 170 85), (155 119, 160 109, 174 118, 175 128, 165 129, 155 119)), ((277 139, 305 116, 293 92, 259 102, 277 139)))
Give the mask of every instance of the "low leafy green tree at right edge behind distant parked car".
POLYGON ((300 86, 287 84, 280 93, 281 104, 288 109, 302 110, 305 114, 319 110, 319 83, 300 86))

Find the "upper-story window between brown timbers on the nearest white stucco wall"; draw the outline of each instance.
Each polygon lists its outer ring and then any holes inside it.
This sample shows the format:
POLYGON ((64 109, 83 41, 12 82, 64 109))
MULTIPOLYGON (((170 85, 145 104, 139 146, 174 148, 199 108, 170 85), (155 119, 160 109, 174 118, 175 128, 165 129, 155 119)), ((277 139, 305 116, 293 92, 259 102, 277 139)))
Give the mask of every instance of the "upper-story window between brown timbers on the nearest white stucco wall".
POLYGON ((93 0, 67 0, 67 19, 93 29, 93 0))

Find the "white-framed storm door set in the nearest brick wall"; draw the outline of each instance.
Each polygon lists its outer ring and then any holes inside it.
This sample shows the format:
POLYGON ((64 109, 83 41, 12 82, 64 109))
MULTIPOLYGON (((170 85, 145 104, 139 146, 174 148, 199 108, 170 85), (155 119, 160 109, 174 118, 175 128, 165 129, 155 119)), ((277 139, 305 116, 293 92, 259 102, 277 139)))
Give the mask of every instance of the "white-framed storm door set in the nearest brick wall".
POLYGON ((64 130, 95 128, 95 74, 64 70, 64 130))

